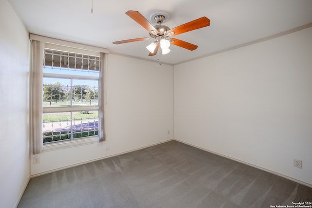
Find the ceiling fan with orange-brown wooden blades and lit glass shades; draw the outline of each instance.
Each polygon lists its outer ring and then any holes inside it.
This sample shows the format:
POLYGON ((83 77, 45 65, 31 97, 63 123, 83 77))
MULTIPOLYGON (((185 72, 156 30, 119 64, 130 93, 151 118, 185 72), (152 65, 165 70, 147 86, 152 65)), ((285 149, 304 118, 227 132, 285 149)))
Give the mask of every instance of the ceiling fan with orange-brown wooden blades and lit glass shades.
POLYGON ((166 13, 156 13, 151 16, 151 20, 157 23, 155 26, 145 19, 138 11, 128 11, 126 12, 126 15, 144 27, 149 32, 151 38, 120 40, 113 42, 113 44, 156 39, 156 41, 146 47, 150 51, 149 56, 155 56, 157 52, 159 56, 160 50, 163 55, 168 54, 170 52, 170 44, 180 46, 191 51, 195 50, 198 47, 197 45, 171 37, 210 25, 210 20, 206 17, 202 17, 170 29, 168 26, 162 25, 162 23, 169 19, 169 16, 166 13))

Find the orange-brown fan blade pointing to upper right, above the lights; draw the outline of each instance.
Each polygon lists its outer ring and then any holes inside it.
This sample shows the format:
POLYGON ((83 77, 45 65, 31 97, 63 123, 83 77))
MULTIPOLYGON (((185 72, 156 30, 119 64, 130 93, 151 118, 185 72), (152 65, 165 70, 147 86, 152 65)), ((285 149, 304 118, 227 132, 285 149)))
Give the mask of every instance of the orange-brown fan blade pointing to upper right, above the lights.
POLYGON ((189 32, 192 30, 196 30, 202 27, 207 27, 210 25, 210 19, 206 18, 206 17, 202 17, 199 19, 195 19, 193 21, 190 21, 188 23, 182 24, 180 26, 177 26, 171 30, 167 31, 167 34, 169 34, 170 36, 176 36, 185 32, 189 32), (174 34, 170 34, 172 32, 175 32, 174 34))

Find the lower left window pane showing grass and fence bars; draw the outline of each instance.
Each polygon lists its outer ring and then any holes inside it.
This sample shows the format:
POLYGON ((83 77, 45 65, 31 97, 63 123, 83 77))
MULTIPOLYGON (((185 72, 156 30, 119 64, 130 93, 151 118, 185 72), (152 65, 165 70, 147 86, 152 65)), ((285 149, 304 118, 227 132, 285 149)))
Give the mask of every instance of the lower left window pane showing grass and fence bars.
POLYGON ((71 113, 43 113, 43 143, 71 139, 71 113))

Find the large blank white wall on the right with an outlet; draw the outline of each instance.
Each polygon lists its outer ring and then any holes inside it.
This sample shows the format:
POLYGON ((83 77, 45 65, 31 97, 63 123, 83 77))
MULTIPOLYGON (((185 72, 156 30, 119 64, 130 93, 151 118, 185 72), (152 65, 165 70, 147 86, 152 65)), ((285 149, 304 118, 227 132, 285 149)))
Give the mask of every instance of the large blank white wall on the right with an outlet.
POLYGON ((176 65, 174 89, 177 140, 312 185, 312 28, 176 65))

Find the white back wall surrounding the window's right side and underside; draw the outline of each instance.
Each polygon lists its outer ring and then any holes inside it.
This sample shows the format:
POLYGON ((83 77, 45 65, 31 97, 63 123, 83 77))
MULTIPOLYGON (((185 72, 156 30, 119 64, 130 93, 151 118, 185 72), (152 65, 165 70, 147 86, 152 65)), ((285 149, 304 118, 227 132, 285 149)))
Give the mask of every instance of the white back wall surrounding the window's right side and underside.
POLYGON ((106 141, 42 152, 31 175, 173 138, 173 66, 110 54, 107 69, 106 141))

